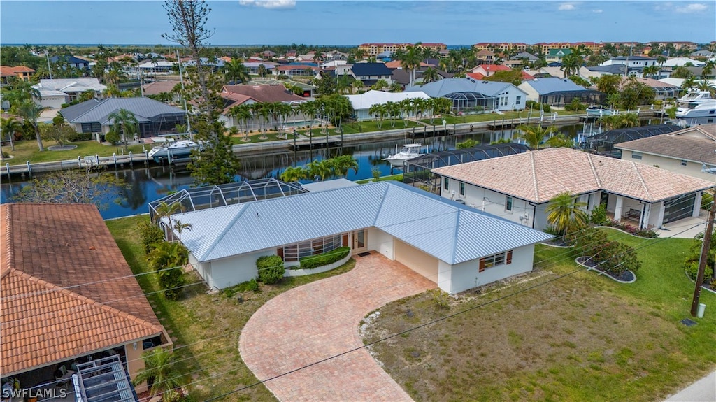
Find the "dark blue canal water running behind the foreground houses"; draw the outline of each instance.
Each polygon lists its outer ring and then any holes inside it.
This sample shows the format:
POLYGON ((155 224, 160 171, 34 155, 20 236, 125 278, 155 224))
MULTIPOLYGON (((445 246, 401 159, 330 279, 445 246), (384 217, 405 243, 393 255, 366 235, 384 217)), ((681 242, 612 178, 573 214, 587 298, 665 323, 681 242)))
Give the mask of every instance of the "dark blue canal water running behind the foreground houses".
MULTIPOLYGON (((560 131, 574 137, 582 128, 581 124, 563 126, 560 127, 560 131)), ((485 131, 448 137, 427 137, 415 139, 415 142, 422 143, 424 146, 421 152, 428 153, 455 149, 458 142, 463 142, 467 139, 475 139, 481 144, 489 144, 491 141, 500 138, 511 138, 512 135, 513 132, 507 130, 504 132, 485 131)), ((390 165, 383 158, 394 153, 395 147, 401 147, 405 141, 412 142, 412 139, 392 139, 385 142, 354 144, 349 147, 312 149, 299 152, 282 151, 274 152, 270 155, 241 156, 239 157, 241 169, 237 172, 236 181, 265 177, 279 178, 281 173, 286 170, 286 167, 304 166, 311 160, 324 160, 326 157, 336 157, 338 155, 352 155, 358 162, 357 172, 351 170, 347 177, 348 180, 370 179, 373 177, 373 170, 379 170, 382 176, 400 173, 402 172, 400 169, 391 170, 390 165)), ((134 169, 117 170, 110 168, 107 172, 124 180, 127 183, 127 187, 122 190, 124 198, 122 202, 102 200, 100 213, 105 219, 148 212, 149 202, 164 197, 169 192, 189 188, 193 184, 193 179, 190 177, 189 172, 182 166, 173 166, 171 168, 167 166, 142 166, 134 169)), ((9 181, 8 177, 4 175, 0 185, 0 203, 12 202, 14 195, 28 182, 27 180, 22 180, 21 177, 13 177, 13 180, 9 181)))

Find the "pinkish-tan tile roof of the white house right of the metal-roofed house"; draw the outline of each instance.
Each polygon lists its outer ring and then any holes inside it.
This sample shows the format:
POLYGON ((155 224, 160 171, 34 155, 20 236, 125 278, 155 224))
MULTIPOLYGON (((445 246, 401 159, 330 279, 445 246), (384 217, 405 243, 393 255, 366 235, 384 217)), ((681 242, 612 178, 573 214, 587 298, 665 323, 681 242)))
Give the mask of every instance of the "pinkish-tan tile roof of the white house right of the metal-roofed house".
POLYGON ((646 202, 705 190, 714 183, 627 160, 551 148, 433 169, 437 175, 535 203, 560 192, 604 190, 646 202))

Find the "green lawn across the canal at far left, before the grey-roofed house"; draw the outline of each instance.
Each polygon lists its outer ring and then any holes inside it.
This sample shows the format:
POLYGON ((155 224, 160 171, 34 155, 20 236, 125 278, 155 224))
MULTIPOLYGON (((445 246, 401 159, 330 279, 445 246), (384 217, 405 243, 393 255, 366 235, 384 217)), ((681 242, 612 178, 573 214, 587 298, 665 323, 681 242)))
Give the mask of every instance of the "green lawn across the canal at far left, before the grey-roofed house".
MULTIPOLYGON (((12 159, 4 162, 10 165, 24 165, 27 161, 30 161, 30 163, 55 162, 59 160, 77 160, 78 156, 100 155, 100 157, 109 157, 114 153, 117 153, 117 155, 122 154, 122 147, 117 150, 114 145, 100 144, 93 140, 68 142, 67 145, 76 145, 77 148, 67 151, 51 151, 47 149, 47 147, 57 145, 57 142, 54 141, 43 141, 42 144, 45 147, 43 152, 39 152, 37 141, 34 139, 15 142, 14 151, 10 147, 3 147, 4 152, 13 156, 12 159)), ((147 149, 150 149, 150 147, 147 147, 147 149)), ((130 145, 129 150, 135 154, 144 152, 142 145, 137 144, 130 145)))

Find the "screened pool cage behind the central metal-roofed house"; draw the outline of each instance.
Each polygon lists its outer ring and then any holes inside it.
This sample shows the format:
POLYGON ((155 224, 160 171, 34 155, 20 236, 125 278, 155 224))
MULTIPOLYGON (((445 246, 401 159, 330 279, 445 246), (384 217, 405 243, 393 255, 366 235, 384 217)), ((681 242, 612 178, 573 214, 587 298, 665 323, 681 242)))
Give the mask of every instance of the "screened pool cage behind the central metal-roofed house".
POLYGON ((149 216, 152 222, 155 222, 155 217, 160 215, 158 210, 174 209, 174 213, 198 211, 304 192, 309 191, 304 190, 299 183, 286 183, 273 177, 227 183, 226 185, 188 188, 150 202, 149 216), (167 207, 160 207, 163 203, 167 207), (178 207, 173 207, 173 205, 178 205, 178 207))

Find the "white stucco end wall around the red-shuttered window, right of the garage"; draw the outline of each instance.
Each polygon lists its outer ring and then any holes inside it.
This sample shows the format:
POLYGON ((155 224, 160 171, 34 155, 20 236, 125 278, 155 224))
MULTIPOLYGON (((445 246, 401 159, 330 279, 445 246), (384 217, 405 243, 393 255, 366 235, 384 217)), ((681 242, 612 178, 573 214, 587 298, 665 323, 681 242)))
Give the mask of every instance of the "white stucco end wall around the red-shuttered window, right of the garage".
MULTIPOLYGON (((534 245, 526 245, 516 248, 512 253, 512 263, 509 265, 498 265, 479 272, 480 260, 466 261, 455 264, 451 269, 450 282, 439 280, 438 285, 448 293, 459 293, 478 286, 487 285, 498 280, 509 278, 513 275, 526 273, 532 270, 534 258, 534 245), (449 288, 450 290, 448 290, 449 288)), ((438 273, 448 272, 440 266, 438 273)))

